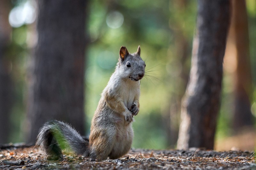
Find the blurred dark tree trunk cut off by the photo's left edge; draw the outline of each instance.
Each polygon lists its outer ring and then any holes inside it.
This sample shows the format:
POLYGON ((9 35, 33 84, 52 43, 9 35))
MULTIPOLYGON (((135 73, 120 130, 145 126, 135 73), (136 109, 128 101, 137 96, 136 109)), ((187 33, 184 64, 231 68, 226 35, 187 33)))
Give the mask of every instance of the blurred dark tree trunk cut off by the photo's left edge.
POLYGON ((0 143, 7 143, 10 134, 12 108, 11 61, 6 49, 10 44, 12 28, 8 21, 11 9, 9 0, 0 0, 0 143))

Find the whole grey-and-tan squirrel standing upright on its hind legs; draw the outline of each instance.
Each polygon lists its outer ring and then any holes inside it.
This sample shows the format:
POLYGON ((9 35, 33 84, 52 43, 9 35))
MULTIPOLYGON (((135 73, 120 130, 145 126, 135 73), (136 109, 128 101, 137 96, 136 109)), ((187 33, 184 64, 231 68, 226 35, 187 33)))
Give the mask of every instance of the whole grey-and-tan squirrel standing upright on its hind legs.
POLYGON ((36 140, 39 150, 58 158, 63 158, 62 149, 98 160, 125 155, 132 145, 132 122, 139 112, 140 80, 145 67, 140 46, 133 54, 122 46, 116 69, 93 115, 89 140, 83 139, 69 124, 53 120, 39 130, 36 140))

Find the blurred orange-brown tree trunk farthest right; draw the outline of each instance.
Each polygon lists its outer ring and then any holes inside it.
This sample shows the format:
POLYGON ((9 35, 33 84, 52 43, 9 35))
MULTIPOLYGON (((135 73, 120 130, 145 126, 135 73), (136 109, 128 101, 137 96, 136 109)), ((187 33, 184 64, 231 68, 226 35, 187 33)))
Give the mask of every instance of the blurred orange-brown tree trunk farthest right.
POLYGON ((232 16, 228 34, 230 50, 235 52, 235 110, 233 128, 237 132, 254 124, 251 112, 252 74, 249 55, 249 33, 244 0, 232 0, 232 16))

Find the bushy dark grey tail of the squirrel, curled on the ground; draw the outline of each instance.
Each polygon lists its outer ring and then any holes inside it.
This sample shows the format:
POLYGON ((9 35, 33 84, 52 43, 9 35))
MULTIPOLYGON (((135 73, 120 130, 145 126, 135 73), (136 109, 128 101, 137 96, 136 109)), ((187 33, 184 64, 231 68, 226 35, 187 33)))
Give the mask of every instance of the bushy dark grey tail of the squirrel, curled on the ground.
POLYGON ((56 120, 45 123, 36 140, 40 151, 59 158, 63 158, 62 149, 88 156, 88 143, 69 124, 56 120))

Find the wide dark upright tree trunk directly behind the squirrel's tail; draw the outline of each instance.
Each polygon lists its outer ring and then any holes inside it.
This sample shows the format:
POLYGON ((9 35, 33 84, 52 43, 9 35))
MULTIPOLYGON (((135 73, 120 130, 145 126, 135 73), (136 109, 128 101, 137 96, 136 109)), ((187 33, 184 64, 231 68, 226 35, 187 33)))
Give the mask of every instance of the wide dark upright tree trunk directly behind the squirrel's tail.
POLYGON ((71 123, 84 134, 84 0, 38 1, 38 44, 28 96, 28 142, 48 120, 71 123))

